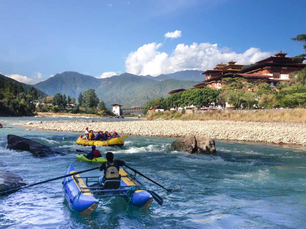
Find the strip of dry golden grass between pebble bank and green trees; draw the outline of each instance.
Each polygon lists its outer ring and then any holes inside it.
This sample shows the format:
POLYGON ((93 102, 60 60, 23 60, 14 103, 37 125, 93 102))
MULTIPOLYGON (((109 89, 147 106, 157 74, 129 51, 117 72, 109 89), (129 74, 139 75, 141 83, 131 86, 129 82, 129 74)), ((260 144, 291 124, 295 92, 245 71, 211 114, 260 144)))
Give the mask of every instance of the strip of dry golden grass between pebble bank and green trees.
POLYGON ((306 122, 305 109, 289 109, 283 111, 255 111, 246 113, 233 113, 229 111, 207 112, 202 115, 193 113, 181 114, 178 111, 165 111, 149 113, 147 119, 178 119, 178 120, 236 120, 254 122, 306 122))

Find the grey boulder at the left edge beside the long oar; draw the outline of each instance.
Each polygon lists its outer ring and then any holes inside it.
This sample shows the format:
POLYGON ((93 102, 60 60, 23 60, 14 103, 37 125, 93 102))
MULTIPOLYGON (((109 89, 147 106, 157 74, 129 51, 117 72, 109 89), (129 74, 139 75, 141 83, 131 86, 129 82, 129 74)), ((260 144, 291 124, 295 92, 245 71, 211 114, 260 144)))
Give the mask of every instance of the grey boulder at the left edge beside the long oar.
MULTIPOLYGON (((20 176, 0 170, 0 192, 9 188, 26 185, 20 176)), ((1 194, 0 194, 1 196, 1 194)))

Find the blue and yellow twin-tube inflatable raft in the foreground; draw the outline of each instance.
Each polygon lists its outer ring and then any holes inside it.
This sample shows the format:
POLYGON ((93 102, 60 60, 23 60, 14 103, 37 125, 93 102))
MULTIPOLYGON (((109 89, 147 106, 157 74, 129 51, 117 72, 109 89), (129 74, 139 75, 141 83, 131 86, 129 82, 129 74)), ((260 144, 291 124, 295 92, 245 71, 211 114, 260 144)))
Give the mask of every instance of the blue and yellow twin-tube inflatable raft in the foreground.
MULTIPOLYGON (((73 164, 67 169, 63 180, 63 193, 68 201, 69 207, 82 214, 92 213, 99 204, 99 199, 120 196, 129 205, 136 207, 148 207, 151 205, 153 198, 150 192, 141 190, 143 186, 135 176, 120 167, 119 173, 121 180, 107 180, 103 186, 99 184, 98 176, 79 176, 73 164), (83 181, 86 179, 86 182, 83 181), (94 179, 94 180, 90 180, 94 179), (91 184, 91 185, 90 185, 91 184)), ((101 172, 102 173, 102 172, 101 172)))

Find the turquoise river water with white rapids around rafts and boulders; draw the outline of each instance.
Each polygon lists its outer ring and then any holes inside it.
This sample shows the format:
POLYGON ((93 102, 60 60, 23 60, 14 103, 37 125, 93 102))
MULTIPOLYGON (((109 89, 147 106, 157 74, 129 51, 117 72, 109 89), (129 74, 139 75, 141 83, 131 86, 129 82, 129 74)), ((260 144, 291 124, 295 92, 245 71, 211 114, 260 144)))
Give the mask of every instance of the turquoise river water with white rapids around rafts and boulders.
MULTIPOLYGON (((32 120, 66 119, 0 118, 2 124, 32 120)), ((76 159, 76 149, 90 149, 75 143, 79 135, 6 125, 0 129, 0 170, 16 173, 31 184, 64 175, 70 163, 76 170, 96 167, 76 159), (65 155, 35 158, 29 152, 7 150, 7 134, 58 148, 65 155)), ((148 209, 126 211, 121 198, 107 198, 90 216, 80 216, 69 209, 62 180, 56 180, 0 197, 0 228, 306 227, 305 147, 217 140, 216 154, 190 155, 171 152, 174 140, 130 136, 121 148, 98 147, 174 189, 167 193, 137 176, 163 198, 162 206, 153 202, 148 209)), ((100 174, 94 170, 83 175, 100 174)))

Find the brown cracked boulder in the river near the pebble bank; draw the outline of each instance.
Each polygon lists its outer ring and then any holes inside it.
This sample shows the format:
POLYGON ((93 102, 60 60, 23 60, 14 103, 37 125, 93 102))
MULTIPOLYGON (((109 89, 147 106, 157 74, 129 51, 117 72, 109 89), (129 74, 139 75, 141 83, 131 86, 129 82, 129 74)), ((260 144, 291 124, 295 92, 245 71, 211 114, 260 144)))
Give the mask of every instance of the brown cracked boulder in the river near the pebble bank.
POLYGON ((174 141, 171 144, 172 151, 184 151, 188 154, 215 153, 215 141, 211 137, 189 135, 174 141))

